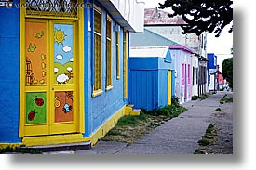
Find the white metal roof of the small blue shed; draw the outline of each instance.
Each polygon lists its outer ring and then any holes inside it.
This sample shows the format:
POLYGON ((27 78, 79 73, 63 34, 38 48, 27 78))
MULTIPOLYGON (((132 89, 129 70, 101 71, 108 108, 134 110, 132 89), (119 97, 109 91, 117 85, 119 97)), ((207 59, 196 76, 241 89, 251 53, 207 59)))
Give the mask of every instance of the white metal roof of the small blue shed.
POLYGON ((166 58, 168 46, 138 46, 129 48, 129 57, 159 57, 166 58))

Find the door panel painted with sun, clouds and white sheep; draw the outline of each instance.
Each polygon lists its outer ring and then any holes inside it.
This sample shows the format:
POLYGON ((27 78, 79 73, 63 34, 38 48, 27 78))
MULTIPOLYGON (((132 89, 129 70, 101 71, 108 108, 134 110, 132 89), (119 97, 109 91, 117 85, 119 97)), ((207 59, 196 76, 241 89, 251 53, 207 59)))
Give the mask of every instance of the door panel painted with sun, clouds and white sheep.
POLYGON ((54 83, 73 84, 73 25, 54 24, 54 83))

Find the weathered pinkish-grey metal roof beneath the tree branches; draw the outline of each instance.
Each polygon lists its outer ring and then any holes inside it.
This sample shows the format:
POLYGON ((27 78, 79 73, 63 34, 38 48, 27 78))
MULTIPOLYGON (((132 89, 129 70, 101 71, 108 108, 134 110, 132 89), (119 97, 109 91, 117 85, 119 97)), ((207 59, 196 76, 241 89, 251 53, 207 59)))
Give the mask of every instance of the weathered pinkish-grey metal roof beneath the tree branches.
POLYGON ((168 12, 158 8, 144 9, 144 25, 186 25, 180 16, 168 17, 168 12))

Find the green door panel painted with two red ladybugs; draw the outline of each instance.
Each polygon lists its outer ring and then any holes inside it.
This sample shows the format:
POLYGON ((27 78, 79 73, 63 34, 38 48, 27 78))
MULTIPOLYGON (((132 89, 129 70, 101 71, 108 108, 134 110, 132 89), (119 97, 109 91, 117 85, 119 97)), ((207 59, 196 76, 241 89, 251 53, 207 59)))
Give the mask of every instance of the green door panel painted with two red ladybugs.
POLYGON ((46 93, 26 93, 26 124, 47 122, 46 93))

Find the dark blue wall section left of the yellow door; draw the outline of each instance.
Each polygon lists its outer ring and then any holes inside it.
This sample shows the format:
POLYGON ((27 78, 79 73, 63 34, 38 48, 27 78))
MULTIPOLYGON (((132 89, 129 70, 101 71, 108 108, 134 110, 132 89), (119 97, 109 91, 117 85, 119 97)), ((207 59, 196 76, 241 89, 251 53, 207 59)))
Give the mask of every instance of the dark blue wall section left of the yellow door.
MULTIPOLYGON (((18 3, 14 0, 14 3, 18 3)), ((20 111, 20 10, 0 7, 0 143, 18 143, 20 111)))

